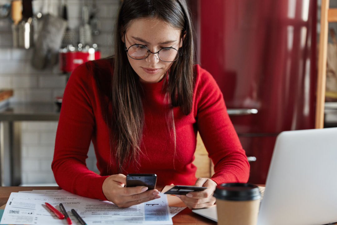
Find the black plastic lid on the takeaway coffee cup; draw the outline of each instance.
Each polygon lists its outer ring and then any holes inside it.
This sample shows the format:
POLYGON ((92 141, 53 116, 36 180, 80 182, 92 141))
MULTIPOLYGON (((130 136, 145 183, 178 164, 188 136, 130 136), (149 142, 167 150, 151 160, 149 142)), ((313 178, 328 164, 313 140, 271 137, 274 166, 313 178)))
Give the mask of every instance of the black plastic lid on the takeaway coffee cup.
POLYGON ((222 200, 249 201, 261 198, 261 193, 256 185, 227 183, 216 186, 213 196, 222 200))

